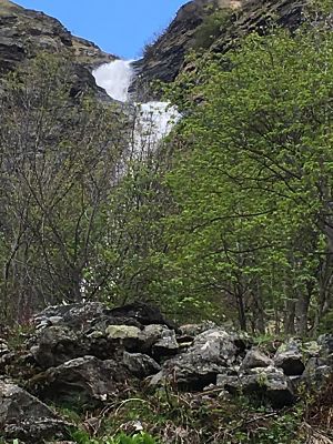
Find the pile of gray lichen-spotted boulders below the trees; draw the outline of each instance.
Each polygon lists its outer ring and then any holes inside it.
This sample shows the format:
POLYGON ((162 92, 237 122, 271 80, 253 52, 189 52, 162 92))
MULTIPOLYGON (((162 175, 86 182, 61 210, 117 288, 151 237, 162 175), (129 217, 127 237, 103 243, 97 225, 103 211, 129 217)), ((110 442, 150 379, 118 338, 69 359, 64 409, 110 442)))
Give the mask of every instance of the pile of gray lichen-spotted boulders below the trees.
POLYGON ((306 344, 290 340, 268 355, 244 334, 212 323, 176 329, 140 302, 114 310, 101 303, 53 306, 33 322, 23 362, 34 375, 26 390, 13 383, 10 369, 18 363, 0 340, 0 361, 11 357, 0 366, 0 426, 4 437, 27 442, 65 438, 65 424, 48 403, 99 406, 144 379, 152 387, 221 389, 283 407, 295 401, 300 383, 320 386, 333 372, 332 335, 306 344))

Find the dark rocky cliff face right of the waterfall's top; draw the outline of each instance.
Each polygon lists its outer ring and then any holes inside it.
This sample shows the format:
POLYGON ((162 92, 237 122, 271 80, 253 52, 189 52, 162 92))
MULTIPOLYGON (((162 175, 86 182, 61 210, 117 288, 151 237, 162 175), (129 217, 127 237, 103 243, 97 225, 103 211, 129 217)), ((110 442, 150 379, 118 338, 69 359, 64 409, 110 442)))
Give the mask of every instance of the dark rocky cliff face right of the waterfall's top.
POLYGON ((152 80, 172 82, 184 67, 185 54, 195 43, 195 34, 205 18, 224 9, 229 19, 213 39, 209 51, 225 52, 238 39, 258 30, 265 32, 272 21, 296 29, 302 21, 302 0, 193 0, 184 4, 165 32, 151 44, 135 63, 138 77, 131 91, 139 99, 153 95, 152 80))

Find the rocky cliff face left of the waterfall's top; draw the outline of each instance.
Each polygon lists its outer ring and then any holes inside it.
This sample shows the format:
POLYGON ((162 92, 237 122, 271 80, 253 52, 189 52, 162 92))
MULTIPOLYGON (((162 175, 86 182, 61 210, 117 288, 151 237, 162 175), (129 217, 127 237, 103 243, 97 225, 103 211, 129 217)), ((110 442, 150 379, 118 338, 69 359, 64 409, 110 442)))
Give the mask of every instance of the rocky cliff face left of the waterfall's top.
POLYGON ((70 57, 75 65, 77 88, 99 91, 91 70, 115 59, 94 43, 73 37, 57 19, 0 0, 0 74, 46 51, 70 57))

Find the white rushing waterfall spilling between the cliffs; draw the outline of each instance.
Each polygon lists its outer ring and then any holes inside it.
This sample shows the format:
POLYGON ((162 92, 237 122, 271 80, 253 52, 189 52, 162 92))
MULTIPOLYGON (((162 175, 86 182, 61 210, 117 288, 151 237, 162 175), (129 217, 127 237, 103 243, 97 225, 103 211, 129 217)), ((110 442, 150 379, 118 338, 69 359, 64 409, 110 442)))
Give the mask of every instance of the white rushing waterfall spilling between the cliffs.
MULTIPOLYGON (((114 100, 129 102, 129 88, 134 77, 131 60, 115 60, 93 71, 95 82, 114 100)), ((147 153, 157 148, 180 119, 175 107, 168 102, 131 103, 134 109, 133 144, 137 153, 147 153)))

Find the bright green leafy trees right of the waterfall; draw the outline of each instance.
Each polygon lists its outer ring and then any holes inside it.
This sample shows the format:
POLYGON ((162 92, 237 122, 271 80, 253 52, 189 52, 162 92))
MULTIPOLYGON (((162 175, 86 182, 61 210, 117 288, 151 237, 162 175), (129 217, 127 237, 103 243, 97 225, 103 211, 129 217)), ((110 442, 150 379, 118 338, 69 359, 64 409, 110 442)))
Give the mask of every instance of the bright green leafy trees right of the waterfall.
POLYGON ((243 329, 275 313, 305 334, 310 309, 332 305, 332 43, 324 20, 253 33, 179 80, 193 88, 169 175, 172 259, 195 297, 233 301, 243 329))

